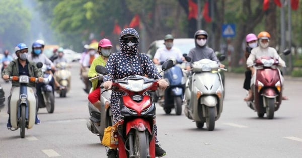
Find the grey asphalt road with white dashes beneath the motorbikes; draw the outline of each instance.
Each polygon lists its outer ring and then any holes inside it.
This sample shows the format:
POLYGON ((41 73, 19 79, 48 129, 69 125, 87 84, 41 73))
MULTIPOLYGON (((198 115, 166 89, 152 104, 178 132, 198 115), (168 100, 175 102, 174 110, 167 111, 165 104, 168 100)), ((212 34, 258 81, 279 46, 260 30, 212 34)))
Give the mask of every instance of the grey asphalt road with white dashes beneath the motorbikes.
MULTIPOLYGON (((79 78, 78 63, 72 64, 71 91, 66 98, 56 94, 55 111, 39 110, 41 124, 26 130, 6 129, 7 107, 0 112, 0 157, 106 157, 99 138, 86 128, 87 94, 79 78)), ((226 96, 215 130, 197 129, 184 114, 164 114, 157 106, 158 139, 165 157, 301 157, 302 80, 286 77, 283 101, 272 120, 258 118, 243 101, 243 75, 226 74, 226 96)), ((9 94, 11 83, 0 80, 9 94)))

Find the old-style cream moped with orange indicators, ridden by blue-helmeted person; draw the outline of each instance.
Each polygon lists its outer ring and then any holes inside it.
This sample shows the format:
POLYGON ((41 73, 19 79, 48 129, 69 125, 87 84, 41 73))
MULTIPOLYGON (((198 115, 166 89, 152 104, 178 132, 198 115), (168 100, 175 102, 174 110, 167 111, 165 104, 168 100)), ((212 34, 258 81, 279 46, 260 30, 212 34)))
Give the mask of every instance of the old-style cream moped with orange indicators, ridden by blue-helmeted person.
MULTIPOLYGON (((42 63, 37 63, 37 67, 41 68, 42 63)), ((35 124, 36 117, 36 98, 31 87, 28 87, 29 82, 37 82, 38 78, 29 77, 26 75, 11 76, 11 81, 18 81, 20 87, 13 89, 10 101, 10 121, 11 130, 20 128, 20 136, 24 138, 25 128, 31 129, 35 124)))

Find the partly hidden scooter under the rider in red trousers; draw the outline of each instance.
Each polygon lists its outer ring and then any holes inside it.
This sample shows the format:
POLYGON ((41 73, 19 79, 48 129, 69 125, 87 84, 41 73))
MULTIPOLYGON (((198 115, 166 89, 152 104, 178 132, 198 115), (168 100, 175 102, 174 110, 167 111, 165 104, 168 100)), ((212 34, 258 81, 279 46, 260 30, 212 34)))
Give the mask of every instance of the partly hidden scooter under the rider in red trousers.
MULTIPOLYGON (((89 80, 98 79, 103 80, 103 75, 99 74, 89 80)), ((111 90, 106 90, 101 85, 101 111, 99 111, 91 102, 88 101, 89 120, 86 122, 88 130, 97 134, 102 141, 104 136, 104 129, 113 125, 113 114, 110 107, 111 90)), ((92 91, 92 88, 90 92, 92 91)))

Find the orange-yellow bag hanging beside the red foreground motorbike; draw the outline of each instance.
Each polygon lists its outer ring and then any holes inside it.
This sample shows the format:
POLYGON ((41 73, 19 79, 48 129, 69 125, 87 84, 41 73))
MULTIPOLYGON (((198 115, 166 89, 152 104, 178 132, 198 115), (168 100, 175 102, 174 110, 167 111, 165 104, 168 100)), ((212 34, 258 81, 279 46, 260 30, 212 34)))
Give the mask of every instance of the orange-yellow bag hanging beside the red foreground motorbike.
POLYGON ((117 124, 113 126, 108 126, 104 129, 104 136, 101 144, 106 147, 117 148, 118 147, 118 138, 117 138, 117 124))

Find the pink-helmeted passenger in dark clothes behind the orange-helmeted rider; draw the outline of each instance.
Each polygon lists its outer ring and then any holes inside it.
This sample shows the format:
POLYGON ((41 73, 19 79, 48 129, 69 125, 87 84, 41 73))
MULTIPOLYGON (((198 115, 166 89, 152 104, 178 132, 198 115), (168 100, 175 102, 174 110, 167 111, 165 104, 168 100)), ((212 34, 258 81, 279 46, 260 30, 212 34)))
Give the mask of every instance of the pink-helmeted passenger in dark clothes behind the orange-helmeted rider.
MULTIPOLYGON (((258 46, 258 42, 257 42, 257 36, 253 33, 250 33, 246 36, 246 50, 244 53, 245 56, 245 60, 247 61, 251 50, 255 47, 258 46)), ((243 88, 246 89, 247 91, 249 91, 249 89, 251 89, 251 77, 252 77, 252 71, 247 67, 247 70, 245 72, 245 79, 244 79, 244 83, 243 83, 243 88)), ((249 91, 249 96, 252 95, 252 91, 249 91)))

